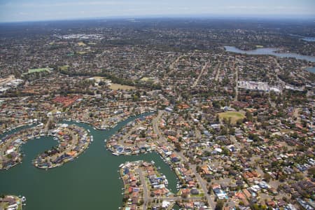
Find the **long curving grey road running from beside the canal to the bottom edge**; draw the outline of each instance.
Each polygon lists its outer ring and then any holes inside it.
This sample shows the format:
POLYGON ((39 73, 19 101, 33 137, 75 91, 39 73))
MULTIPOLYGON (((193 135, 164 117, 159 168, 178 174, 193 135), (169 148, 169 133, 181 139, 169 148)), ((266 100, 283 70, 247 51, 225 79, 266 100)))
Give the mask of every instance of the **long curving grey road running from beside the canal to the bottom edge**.
MULTIPOLYGON (((165 144, 167 144, 167 146, 169 146, 170 148, 172 148, 172 150, 174 151, 174 153, 176 153, 176 155, 179 155, 179 157, 181 157, 181 160, 183 160, 183 162, 188 162, 189 164, 189 161, 188 159, 182 154, 182 153, 179 153, 179 152, 176 152, 174 150, 174 146, 172 146, 172 144, 169 144, 169 142, 167 142, 167 139, 165 139, 165 137, 161 134, 160 132, 160 129, 158 127, 158 122, 161 118, 163 114, 163 111, 159 111, 158 112, 158 116, 156 118, 153 119, 152 123, 153 123, 153 130, 155 132, 155 134, 158 134, 159 136, 159 141, 162 141, 164 142, 165 144)), ((190 165, 190 164, 189 164, 190 165)), ((196 166, 195 165, 190 165, 190 168, 192 169, 193 171, 193 174, 195 175, 195 177, 197 178, 197 181, 200 183, 200 186, 202 188, 202 190, 204 191, 204 196, 206 197, 207 199, 207 202, 208 204, 210 205, 210 209, 214 209, 215 207, 215 204, 214 204, 214 201, 211 200, 211 197, 208 195, 208 188, 207 188, 207 183, 206 181, 204 181, 200 174, 197 173, 196 171, 196 166)))

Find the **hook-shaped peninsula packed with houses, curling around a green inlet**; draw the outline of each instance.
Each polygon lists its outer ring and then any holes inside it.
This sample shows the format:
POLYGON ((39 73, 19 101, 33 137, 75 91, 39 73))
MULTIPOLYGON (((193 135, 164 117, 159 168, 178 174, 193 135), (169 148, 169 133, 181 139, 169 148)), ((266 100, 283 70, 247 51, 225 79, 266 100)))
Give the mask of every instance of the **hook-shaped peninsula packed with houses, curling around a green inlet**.
POLYGON ((9 169, 22 162, 20 146, 29 139, 43 136, 53 136, 59 141, 57 147, 50 148, 41 153, 34 160, 34 166, 41 169, 58 167, 73 160, 83 153, 90 144, 90 135, 81 127, 75 125, 59 124, 55 130, 46 131, 42 125, 21 130, 16 134, 10 134, 1 139, 0 169, 9 169))

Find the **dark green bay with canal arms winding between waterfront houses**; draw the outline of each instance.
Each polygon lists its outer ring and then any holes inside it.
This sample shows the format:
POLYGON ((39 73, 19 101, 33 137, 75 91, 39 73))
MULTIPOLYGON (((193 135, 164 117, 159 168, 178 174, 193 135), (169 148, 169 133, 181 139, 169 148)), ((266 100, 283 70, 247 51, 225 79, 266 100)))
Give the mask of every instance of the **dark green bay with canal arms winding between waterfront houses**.
POLYGON ((57 141, 52 137, 32 139, 22 146, 25 153, 22 164, 0 171, 0 194, 27 197, 27 206, 23 207, 27 210, 118 209, 123 200, 123 182, 118 179, 118 166, 134 160, 154 160, 155 165, 161 167, 160 172, 167 176, 169 189, 176 192, 176 175, 157 153, 114 156, 106 151, 104 139, 109 139, 120 127, 134 119, 125 120, 106 131, 75 123, 89 129, 94 141, 73 162, 48 171, 37 169, 31 165, 31 160, 38 153, 55 146, 57 141))

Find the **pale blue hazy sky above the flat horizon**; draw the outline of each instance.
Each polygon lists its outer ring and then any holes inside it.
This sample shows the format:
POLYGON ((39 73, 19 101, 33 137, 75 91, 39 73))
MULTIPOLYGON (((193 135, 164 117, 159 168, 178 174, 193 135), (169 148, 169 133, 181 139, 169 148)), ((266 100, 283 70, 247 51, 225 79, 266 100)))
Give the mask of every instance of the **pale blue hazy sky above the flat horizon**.
POLYGON ((0 22, 176 16, 315 19, 315 0, 0 0, 0 22))

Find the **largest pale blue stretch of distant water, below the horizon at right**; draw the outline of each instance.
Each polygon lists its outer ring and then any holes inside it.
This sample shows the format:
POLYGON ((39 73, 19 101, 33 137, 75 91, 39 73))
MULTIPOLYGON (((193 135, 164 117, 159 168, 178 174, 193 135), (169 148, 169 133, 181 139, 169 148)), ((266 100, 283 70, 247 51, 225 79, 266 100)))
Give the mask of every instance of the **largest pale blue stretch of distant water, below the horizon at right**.
POLYGON ((247 55, 274 55, 276 57, 294 57, 296 59, 304 59, 309 62, 315 62, 314 56, 300 55, 293 52, 275 52, 281 50, 280 48, 257 48, 255 50, 240 50, 239 48, 236 48, 234 46, 224 46, 224 48, 228 52, 236 52, 247 55))

